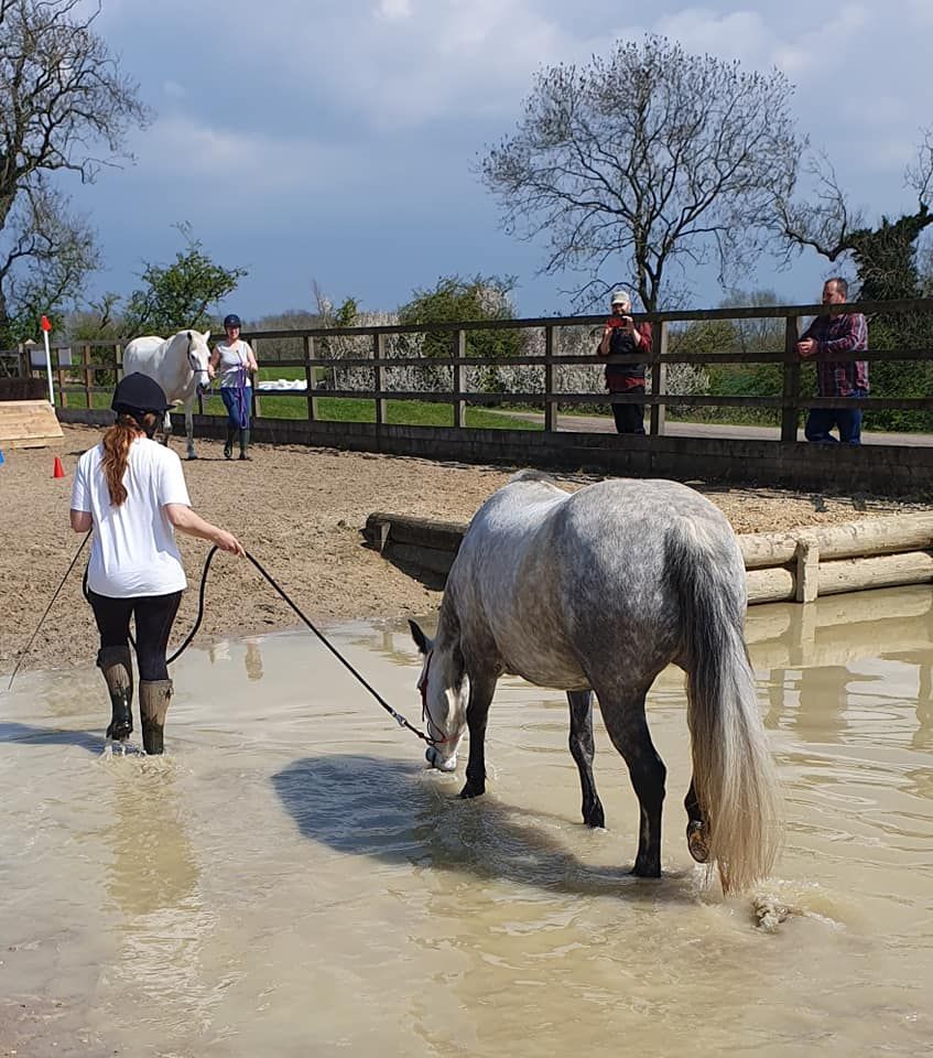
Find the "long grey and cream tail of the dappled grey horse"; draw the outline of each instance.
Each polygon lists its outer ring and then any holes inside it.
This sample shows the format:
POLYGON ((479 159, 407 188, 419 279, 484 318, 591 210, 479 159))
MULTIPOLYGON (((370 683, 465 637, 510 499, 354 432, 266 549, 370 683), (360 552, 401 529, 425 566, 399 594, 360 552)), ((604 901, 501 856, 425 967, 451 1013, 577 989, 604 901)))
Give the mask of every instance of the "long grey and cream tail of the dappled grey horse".
POLYGON ((681 601, 694 789, 708 862, 723 892, 766 877, 777 855, 781 797, 742 635, 745 563, 733 541, 679 520, 666 569, 681 601))

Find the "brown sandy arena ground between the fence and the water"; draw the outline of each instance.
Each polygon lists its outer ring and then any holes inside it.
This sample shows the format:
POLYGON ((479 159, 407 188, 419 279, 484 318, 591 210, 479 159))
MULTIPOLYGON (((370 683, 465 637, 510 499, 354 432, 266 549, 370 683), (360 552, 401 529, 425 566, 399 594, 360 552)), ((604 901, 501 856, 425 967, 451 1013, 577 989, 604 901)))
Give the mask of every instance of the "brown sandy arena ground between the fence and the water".
MULTIPOLYGON (((75 465, 102 431, 64 427, 55 447, 9 449, 0 465, 0 672, 10 672, 48 606, 82 537, 68 528, 75 465), (54 478, 59 455, 65 477, 54 478)), ((181 444, 173 442, 176 451, 181 444)), ((371 511, 466 521, 514 467, 468 466, 426 460, 254 445, 253 461, 224 460, 219 442, 198 442, 199 458, 184 464, 195 509, 235 532, 307 616, 346 618, 427 615, 440 593, 411 579, 364 546, 360 530, 371 511)), ((597 478, 556 474, 576 488, 597 478)), ((778 489, 703 487, 738 532, 894 515, 922 505, 865 495, 828 497, 778 489)), ((197 613, 197 587, 209 546, 180 536, 188 573, 172 647, 197 613)), ((97 637, 82 597, 82 554, 23 661, 23 669, 93 663, 97 637)), ((300 625, 253 566, 218 554, 207 584, 199 643, 300 625)))

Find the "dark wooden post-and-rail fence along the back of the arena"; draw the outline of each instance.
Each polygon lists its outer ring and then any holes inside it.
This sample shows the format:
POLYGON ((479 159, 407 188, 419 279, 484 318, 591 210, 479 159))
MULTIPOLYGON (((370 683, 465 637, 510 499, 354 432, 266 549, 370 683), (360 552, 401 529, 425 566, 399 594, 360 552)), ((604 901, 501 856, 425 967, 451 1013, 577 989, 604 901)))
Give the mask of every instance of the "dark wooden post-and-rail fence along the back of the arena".
MULTIPOLYGON (((393 401, 427 401, 452 404, 454 409, 453 425, 457 430, 465 425, 465 410, 468 406, 490 406, 501 403, 536 406, 543 410, 543 428, 554 431, 557 428, 557 409, 585 408, 587 406, 606 406, 610 403, 639 403, 650 409, 650 435, 661 435, 665 429, 665 412, 669 406, 676 404, 684 408, 719 407, 730 409, 771 409, 780 411, 780 442, 796 441, 796 431, 801 413, 809 408, 846 408, 857 406, 864 411, 872 410, 903 410, 929 411, 933 410, 933 395, 924 397, 898 398, 877 396, 868 398, 814 398, 805 391, 802 379, 802 367, 805 364, 820 360, 867 360, 882 363, 891 360, 931 361, 933 350, 926 349, 868 349, 848 354, 818 354, 802 363, 795 348, 801 333, 802 320, 820 313, 837 314, 839 312, 860 311, 869 316, 883 313, 891 314, 930 313, 933 312, 933 299, 904 300, 896 302, 861 302, 853 305, 791 305, 749 309, 716 309, 696 310, 691 312, 663 312, 652 314, 634 314, 636 321, 647 320, 654 327, 652 348, 633 356, 608 357, 597 359, 595 347, 601 336, 601 326, 605 316, 561 316, 533 320, 499 320, 463 323, 432 323, 417 326, 380 325, 368 327, 338 327, 338 328, 304 328, 295 331, 254 331, 245 337, 253 345, 257 358, 262 368, 301 369, 304 373, 304 390, 274 390, 275 398, 304 401, 306 418, 314 421, 318 418, 317 399, 322 396, 333 398, 364 398, 376 403, 377 428, 387 420, 387 406, 393 401), (714 349, 709 353, 677 352, 671 349, 671 337, 677 326, 697 322, 712 321, 782 321, 782 348, 763 348, 756 350, 714 349), (592 328, 592 333, 587 331, 592 328), (673 328, 673 330, 672 330, 673 328), (543 352, 528 355, 509 355, 506 357, 467 355, 469 341, 473 335, 485 332, 514 331, 525 339, 543 336, 541 348, 543 352), (579 345, 585 344, 584 354, 564 354, 555 352, 560 348, 561 339, 571 333, 579 345), (436 337, 448 335, 448 353, 440 356, 399 355, 388 352, 391 338, 397 341, 424 341, 424 336, 436 337), (344 352, 350 355, 337 355, 335 347, 345 339, 368 339, 364 354, 358 347, 344 352), (283 344, 300 343, 300 355, 283 355, 283 344), (276 352, 276 347, 279 352, 276 352), (592 349, 593 352, 588 352, 592 349), (623 393, 563 391, 558 386, 562 368, 605 364, 645 364, 649 377, 649 392, 644 396, 628 396, 623 393), (674 365, 774 365, 780 366, 780 395, 774 396, 725 396, 716 393, 674 393, 669 391, 668 368, 674 365), (503 367, 533 368, 541 373, 541 390, 521 391, 470 388, 466 385, 467 369, 496 369, 503 367), (442 390, 424 389, 415 386, 408 388, 392 388, 387 385, 393 371, 399 369, 417 368, 432 373, 436 377, 437 369, 449 370, 449 385, 442 390), (352 386, 321 385, 322 373, 341 373, 343 378, 352 378, 352 386), (348 374, 343 374, 348 373, 348 374), (366 376, 364 373, 369 373, 366 376), (360 380, 362 375, 362 380, 360 380)), ((933 320, 933 316, 931 316, 933 320)), ((774 328, 778 330, 777 327, 774 328)), ((772 339, 777 335, 772 335, 772 339)), ((346 343, 345 343, 346 344, 346 343)), ((780 339, 778 339, 780 344, 780 339)), ((359 342, 356 343, 359 345, 359 342)), ((70 346, 54 345, 53 375, 56 391, 63 407, 68 407, 74 399, 84 407, 95 407, 95 398, 109 395, 112 391, 115 376, 122 369, 123 342, 80 342, 70 346), (65 353, 67 352, 67 356, 65 353), (104 373, 113 373, 109 377, 100 378, 104 373)), ((30 359, 24 347, 15 353, 0 353, 7 369, 10 365, 19 365, 19 370, 39 371, 35 366, 30 367, 30 359)), ((268 392, 268 391, 267 391, 268 392)), ((263 393, 253 390, 254 413, 261 414, 263 393)), ((98 401, 98 406, 99 406, 98 401)), ((77 407, 77 403, 75 404, 77 407)), ((199 411, 204 413, 203 400, 199 411)))

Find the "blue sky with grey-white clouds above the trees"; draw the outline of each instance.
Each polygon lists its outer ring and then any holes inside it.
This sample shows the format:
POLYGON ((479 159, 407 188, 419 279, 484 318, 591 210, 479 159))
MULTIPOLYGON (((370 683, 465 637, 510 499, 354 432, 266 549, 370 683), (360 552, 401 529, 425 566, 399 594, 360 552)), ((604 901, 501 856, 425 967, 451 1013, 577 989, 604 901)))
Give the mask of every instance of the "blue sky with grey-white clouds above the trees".
MULTIPOLYGON (((533 75, 648 32, 687 51, 783 71, 801 133, 869 220, 915 208, 903 171, 933 123, 933 0, 101 0, 96 29, 156 118, 133 164, 68 187, 105 259, 91 293, 128 293, 170 263, 192 226, 249 274, 220 307, 245 320, 334 302, 393 310, 441 276, 517 279, 521 316, 568 312, 572 276, 544 277, 543 244, 500 227, 476 169, 512 132, 533 75)), ((818 301, 814 253, 748 289, 818 301)), ((607 277, 615 281, 616 277, 607 277)), ((716 304, 715 278, 690 277, 716 304)))

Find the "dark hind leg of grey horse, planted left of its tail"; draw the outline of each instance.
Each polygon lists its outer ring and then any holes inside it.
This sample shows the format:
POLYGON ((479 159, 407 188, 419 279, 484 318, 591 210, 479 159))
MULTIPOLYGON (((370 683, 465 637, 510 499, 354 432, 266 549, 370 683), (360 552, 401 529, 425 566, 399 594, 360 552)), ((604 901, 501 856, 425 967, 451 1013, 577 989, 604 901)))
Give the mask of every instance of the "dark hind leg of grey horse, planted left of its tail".
MULTIPOLYGON (((597 688, 596 693, 599 694, 597 688)), ((599 705, 612 745, 625 758, 638 797, 640 823, 638 855, 632 874, 643 878, 661 877, 661 807, 668 769, 658 756, 644 716, 644 695, 612 701, 599 695, 599 705), (610 706, 607 708, 607 700, 610 706)))

